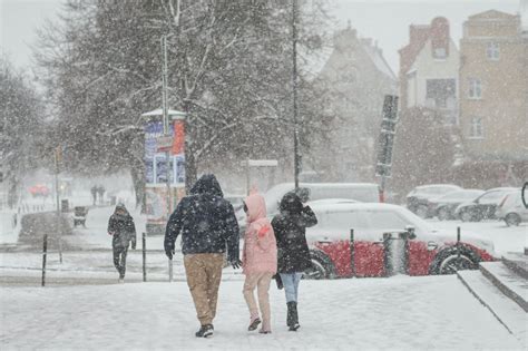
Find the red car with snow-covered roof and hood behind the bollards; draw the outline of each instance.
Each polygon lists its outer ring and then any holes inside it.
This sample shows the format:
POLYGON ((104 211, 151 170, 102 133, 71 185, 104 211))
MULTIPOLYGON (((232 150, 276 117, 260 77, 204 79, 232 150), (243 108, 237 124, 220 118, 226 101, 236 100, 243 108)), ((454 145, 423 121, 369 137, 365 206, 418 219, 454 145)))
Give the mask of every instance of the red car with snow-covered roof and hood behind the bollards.
POLYGON ((463 232, 459 250, 456 232, 436 231, 409 209, 390 204, 314 205, 317 225, 307 228, 313 267, 307 277, 350 276, 350 230, 354 230, 355 276, 383 276, 385 259, 383 233, 414 230, 409 241, 410 275, 451 274, 478 269, 481 261, 493 260, 493 244, 463 232))

